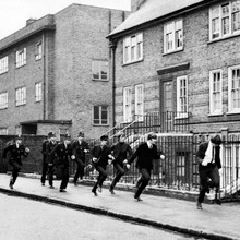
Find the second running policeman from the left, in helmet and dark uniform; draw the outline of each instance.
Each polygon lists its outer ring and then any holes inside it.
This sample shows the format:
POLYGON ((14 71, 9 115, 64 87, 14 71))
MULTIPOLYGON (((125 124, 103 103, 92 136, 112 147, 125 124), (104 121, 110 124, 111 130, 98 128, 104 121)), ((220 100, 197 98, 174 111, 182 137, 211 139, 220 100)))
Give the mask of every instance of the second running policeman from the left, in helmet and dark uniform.
POLYGON ((57 145, 57 141, 56 141, 56 134, 53 132, 50 132, 48 134, 49 136, 49 142, 46 145, 46 161, 48 164, 48 182, 49 182, 49 187, 50 189, 53 189, 53 161, 56 158, 55 154, 51 154, 52 149, 55 148, 55 146, 57 145))

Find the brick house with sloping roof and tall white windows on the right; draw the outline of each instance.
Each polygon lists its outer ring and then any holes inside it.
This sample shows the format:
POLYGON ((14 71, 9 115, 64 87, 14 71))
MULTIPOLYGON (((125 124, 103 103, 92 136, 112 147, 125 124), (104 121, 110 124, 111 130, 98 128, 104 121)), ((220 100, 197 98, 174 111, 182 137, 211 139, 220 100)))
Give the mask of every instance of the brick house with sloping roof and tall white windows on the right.
POLYGON ((139 2, 109 35, 116 124, 157 112, 160 132, 239 133, 240 1, 139 2))

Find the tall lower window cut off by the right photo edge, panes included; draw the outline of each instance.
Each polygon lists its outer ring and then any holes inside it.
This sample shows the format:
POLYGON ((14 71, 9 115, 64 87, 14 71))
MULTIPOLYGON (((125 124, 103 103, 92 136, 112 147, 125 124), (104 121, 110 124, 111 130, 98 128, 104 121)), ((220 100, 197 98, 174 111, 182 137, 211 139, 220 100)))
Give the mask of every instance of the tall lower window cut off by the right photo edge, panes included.
POLYGON ((240 65, 228 69, 228 111, 240 112, 240 65))

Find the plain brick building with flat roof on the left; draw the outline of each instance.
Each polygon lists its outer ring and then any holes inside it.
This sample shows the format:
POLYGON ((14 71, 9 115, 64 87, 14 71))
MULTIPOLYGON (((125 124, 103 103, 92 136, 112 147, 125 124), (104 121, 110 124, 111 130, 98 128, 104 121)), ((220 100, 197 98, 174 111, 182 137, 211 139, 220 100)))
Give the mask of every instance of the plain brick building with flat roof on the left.
POLYGON ((99 137, 112 124, 109 40, 125 12, 81 4, 0 40, 0 135, 99 137))

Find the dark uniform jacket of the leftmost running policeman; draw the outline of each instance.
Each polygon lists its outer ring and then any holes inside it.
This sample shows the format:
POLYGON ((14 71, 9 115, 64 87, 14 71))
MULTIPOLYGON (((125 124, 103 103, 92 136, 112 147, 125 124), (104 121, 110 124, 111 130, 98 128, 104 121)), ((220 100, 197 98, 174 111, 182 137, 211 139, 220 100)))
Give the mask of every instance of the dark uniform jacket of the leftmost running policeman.
POLYGON ((10 146, 8 146, 7 156, 10 165, 12 165, 13 161, 16 161, 19 165, 22 165, 21 156, 27 157, 28 153, 25 151, 24 145, 20 145, 17 148, 16 144, 13 143, 10 146))

